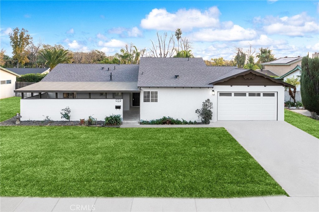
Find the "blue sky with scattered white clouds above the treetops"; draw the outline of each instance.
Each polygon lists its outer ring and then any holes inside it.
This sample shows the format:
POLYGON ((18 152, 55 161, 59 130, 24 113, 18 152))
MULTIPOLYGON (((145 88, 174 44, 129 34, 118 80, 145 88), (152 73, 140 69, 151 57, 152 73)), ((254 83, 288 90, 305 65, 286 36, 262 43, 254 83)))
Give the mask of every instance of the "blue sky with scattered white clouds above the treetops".
POLYGON ((319 52, 318 1, 4 1, 1 48, 12 55, 8 34, 25 28, 33 42, 107 55, 133 43, 152 46, 156 32, 192 42, 196 57, 231 59, 234 46, 270 47, 277 58, 319 52))

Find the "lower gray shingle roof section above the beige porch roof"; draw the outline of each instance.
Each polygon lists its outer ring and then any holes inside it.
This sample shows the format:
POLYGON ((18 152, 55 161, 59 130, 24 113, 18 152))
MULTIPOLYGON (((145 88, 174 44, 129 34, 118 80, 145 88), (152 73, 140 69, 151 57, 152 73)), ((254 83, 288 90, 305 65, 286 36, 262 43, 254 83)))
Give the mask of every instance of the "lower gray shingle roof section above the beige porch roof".
POLYGON ((136 82, 138 67, 138 65, 128 64, 59 64, 41 81, 108 82, 112 73, 113 82, 136 82), (102 67, 104 67, 103 70, 102 67))

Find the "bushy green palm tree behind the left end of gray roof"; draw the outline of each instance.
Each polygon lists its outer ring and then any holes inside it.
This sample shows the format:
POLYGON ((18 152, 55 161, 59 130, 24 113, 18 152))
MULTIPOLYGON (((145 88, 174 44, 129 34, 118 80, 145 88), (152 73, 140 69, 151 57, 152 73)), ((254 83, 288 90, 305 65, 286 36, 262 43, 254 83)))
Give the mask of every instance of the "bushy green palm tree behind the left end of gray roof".
POLYGON ((70 63, 72 57, 68 55, 69 50, 64 49, 44 49, 40 52, 40 57, 45 64, 48 64, 50 71, 59 63, 70 63))

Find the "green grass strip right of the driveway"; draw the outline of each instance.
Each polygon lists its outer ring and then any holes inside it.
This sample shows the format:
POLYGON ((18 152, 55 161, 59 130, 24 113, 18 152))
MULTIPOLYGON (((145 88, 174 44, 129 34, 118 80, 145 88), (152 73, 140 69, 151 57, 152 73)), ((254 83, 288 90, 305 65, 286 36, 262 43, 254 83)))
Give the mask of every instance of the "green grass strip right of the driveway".
POLYGON ((285 109, 285 121, 319 138, 319 121, 285 109))

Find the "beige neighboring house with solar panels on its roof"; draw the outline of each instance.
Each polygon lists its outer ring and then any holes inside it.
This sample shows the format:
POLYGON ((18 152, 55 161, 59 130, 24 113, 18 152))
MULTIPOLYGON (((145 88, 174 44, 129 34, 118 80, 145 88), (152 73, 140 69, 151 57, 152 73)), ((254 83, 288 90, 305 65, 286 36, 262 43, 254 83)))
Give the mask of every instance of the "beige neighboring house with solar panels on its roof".
POLYGON ((271 62, 262 63, 265 69, 272 73, 282 76, 299 65, 301 67, 302 57, 283 57, 271 62))

